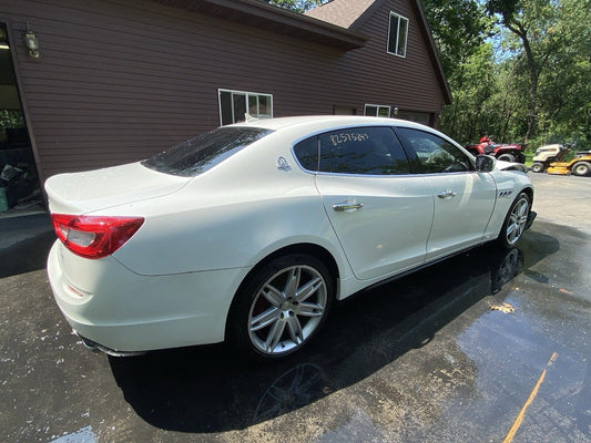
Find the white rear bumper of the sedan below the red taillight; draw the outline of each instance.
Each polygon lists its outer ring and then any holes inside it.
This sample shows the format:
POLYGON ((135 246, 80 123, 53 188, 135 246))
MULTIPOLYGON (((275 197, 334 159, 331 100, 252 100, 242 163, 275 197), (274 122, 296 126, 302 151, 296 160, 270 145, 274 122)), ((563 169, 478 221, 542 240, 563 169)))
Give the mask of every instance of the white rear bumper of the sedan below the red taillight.
POLYGON ((223 341, 233 296, 247 271, 141 276, 113 257, 73 256, 60 241, 48 259, 51 289, 70 326, 119 353, 223 341), (82 280, 69 280, 65 260, 77 261, 82 280))

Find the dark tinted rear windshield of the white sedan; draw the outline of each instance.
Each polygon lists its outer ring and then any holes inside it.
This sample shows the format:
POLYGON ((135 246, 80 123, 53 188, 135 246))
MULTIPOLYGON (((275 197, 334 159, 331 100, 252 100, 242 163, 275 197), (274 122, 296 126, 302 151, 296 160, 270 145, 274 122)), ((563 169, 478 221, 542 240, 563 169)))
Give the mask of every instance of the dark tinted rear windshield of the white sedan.
POLYGON ((142 162, 164 174, 194 177, 272 133, 261 127, 218 127, 142 162))

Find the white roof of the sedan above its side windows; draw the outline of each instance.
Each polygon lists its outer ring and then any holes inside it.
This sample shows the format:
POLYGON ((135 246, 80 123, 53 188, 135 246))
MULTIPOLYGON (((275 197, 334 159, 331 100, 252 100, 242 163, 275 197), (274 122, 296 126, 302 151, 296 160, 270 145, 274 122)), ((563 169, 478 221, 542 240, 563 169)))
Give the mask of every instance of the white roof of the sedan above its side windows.
POLYGON ((285 127, 298 126, 304 130, 306 125, 318 128, 318 125, 323 125, 326 128, 335 126, 358 126, 358 125, 399 125, 407 127, 416 127, 420 130, 432 131, 431 127, 421 125, 419 123, 410 122, 407 120, 388 119, 388 117, 369 117, 363 115, 305 115, 293 117, 277 117, 277 119, 249 119, 246 122, 236 123, 230 126, 248 126, 248 127, 262 127, 266 130, 278 131, 285 127), (324 123, 324 125, 323 125, 324 123))

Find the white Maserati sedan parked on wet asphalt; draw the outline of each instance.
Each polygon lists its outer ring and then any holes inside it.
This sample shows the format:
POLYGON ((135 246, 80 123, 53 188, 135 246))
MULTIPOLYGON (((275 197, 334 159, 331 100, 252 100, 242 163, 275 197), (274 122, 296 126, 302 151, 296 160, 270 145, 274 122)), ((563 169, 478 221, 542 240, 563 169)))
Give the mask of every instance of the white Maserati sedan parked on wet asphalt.
POLYGON ((48 272, 86 346, 299 350, 334 300, 531 224, 522 165, 407 121, 286 117, 45 183, 48 272), (505 169, 505 171, 503 171, 505 169))

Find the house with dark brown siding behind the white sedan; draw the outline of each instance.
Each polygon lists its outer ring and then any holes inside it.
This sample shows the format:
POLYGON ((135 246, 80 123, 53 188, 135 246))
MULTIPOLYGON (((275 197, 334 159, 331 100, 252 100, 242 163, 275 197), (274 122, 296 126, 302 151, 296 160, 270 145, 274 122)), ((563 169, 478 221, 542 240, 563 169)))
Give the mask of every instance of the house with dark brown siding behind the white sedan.
POLYGON ((437 126, 451 101, 418 0, 306 14, 258 0, 2 1, 0 65, 0 169, 19 164, 31 183, 137 161, 245 113, 437 126))

